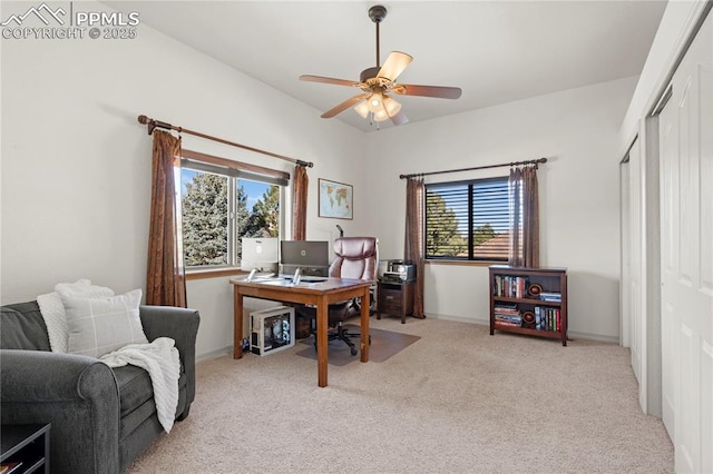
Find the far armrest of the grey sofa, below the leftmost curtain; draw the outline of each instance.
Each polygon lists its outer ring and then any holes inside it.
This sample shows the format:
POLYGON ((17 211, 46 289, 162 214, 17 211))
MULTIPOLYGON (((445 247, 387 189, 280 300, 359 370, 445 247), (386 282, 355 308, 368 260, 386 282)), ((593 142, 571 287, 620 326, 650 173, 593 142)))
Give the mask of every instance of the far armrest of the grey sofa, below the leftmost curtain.
POLYGON ((139 309, 149 342, 157 337, 170 337, 176 342, 186 374, 187 403, 191 404, 196 393, 196 336, 201 315, 196 309, 175 306, 141 306, 139 309))

